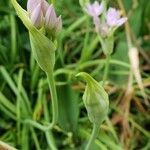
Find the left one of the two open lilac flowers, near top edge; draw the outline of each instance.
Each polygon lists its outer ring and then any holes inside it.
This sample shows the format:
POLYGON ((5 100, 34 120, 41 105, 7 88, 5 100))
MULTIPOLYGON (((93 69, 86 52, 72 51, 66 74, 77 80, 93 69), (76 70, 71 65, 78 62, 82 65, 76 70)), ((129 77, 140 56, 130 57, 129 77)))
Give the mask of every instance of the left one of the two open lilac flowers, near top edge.
POLYGON ((88 3, 84 9, 88 15, 98 17, 103 12, 103 5, 95 1, 93 4, 88 3))

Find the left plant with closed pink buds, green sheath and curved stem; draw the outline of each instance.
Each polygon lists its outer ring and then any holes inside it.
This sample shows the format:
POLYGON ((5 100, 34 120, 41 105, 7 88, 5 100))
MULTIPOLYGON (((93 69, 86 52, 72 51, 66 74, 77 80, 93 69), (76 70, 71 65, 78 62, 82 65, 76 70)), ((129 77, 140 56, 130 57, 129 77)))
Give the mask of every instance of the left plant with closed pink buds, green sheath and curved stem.
POLYGON ((58 102, 53 75, 55 65, 55 51, 57 49, 57 35, 61 31, 61 17, 57 17, 54 7, 46 0, 28 0, 27 11, 16 0, 12 4, 29 31, 31 49, 37 63, 46 73, 52 97, 53 127, 58 121, 58 102))

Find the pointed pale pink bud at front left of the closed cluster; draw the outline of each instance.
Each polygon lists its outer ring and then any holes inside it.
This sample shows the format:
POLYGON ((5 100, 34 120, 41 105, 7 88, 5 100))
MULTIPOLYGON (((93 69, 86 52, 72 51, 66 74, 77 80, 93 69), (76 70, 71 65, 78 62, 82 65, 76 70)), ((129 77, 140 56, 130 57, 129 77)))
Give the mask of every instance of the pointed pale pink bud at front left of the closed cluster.
POLYGON ((31 22, 37 28, 41 28, 43 25, 43 13, 42 13, 41 7, 42 7, 42 4, 39 3, 31 14, 31 22))

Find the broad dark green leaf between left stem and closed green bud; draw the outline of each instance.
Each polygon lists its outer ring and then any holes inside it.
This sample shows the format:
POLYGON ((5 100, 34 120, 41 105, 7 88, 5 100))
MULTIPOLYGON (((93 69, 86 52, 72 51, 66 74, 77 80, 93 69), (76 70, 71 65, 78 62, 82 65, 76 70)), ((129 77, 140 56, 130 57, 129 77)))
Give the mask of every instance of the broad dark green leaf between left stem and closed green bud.
POLYGON ((79 116, 79 95, 71 85, 57 88, 59 104, 59 124, 65 131, 76 133, 79 116))

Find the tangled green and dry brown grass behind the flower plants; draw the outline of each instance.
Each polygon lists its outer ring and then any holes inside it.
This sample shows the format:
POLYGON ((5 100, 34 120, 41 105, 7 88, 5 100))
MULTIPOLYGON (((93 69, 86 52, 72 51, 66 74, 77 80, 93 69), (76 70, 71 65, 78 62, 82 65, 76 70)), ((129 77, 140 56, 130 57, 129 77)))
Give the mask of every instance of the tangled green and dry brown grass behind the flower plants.
MULTIPOLYGON (((19 2, 26 7, 26 0, 19 2)), ((115 34, 105 82, 110 110, 93 150, 149 150, 149 106, 131 73, 128 50, 132 43, 140 53, 140 73, 149 101, 150 2, 108 2, 123 13, 125 9, 129 24, 115 34)), ((75 74, 85 71, 101 82, 106 58, 92 20, 79 2, 55 0, 55 7, 63 18, 54 70, 59 122, 48 130, 52 108, 46 75, 33 58, 28 32, 11 2, 0 1, 0 141, 17 149, 82 150, 91 135, 92 125, 82 101, 84 84, 77 81, 75 74)))

